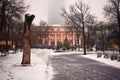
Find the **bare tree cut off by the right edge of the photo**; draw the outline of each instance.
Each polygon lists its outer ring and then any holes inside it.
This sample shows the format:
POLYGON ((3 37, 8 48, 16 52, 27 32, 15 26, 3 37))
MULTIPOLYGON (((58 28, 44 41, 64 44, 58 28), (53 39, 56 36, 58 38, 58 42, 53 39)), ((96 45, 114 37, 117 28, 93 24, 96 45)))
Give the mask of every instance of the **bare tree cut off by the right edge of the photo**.
MULTIPOLYGON (((110 20, 118 24, 119 28, 119 41, 120 46, 120 0, 109 0, 108 4, 104 7, 105 16, 110 20)), ((120 48, 119 48, 120 52, 120 48)))

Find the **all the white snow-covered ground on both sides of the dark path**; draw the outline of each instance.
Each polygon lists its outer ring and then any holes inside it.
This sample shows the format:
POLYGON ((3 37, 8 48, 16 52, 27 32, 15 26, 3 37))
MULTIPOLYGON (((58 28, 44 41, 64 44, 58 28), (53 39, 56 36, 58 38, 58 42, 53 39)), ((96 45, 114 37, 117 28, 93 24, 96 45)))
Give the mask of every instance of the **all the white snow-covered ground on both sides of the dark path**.
MULTIPOLYGON (((120 62, 105 59, 103 56, 97 58, 95 52, 87 52, 87 55, 80 55, 86 58, 120 68, 120 62), (90 54, 89 54, 90 53, 90 54)), ((49 63, 49 57, 64 54, 83 54, 83 52, 57 52, 49 49, 31 49, 31 65, 22 66, 22 52, 9 54, 0 57, 0 80, 52 80, 55 74, 49 63)))

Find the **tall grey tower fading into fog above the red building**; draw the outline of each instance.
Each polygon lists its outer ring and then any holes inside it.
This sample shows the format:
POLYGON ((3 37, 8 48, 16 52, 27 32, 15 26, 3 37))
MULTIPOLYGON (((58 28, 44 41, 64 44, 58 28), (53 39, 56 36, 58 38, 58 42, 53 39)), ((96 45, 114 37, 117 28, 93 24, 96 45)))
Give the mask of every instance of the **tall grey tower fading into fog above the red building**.
POLYGON ((49 0, 48 3, 48 24, 64 24, 63 17, 60 16, 61 8, 65 6, 65 0, 49 0))

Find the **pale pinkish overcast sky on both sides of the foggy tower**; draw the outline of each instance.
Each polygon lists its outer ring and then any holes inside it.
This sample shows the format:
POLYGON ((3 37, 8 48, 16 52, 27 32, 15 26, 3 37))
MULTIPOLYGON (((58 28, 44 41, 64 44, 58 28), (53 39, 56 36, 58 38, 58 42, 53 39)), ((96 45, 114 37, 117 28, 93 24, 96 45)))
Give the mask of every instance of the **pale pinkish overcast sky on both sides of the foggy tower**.
MULTIPOLYGON (((63 6, 63 4, 66 8, 68 8, 70 4, 75 3, 75 1, 77 0, 62 0, 62 2, 63 1, 64 3, 60 3, 60 0, 58 1, 57 0, 25 0, 25 3, 30 5, 30 9, 27 11, 27 13, 34 14, 36 16, 33 23, 39 25, 40 20, 45 20, 48 22, 48 16, 50 16, 50 13, 48 14, 49 11, 48 9, 50 9, 48 6, 49 3, 56 4, 53 5, 51 9, 56 8, 58 5, 63 6)), ((83 0, 83 1, 89 4, 92 10, 91 12, 96 17, 98 17, 98 20, 100 21, 104 20, 103 7, 108 0, 83 0)))

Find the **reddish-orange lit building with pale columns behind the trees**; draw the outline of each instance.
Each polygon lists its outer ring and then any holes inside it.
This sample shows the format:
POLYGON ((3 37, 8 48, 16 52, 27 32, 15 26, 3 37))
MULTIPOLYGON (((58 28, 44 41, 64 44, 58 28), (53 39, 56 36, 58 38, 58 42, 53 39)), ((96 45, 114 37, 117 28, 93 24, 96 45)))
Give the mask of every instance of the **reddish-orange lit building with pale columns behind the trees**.
MULTIPOLYGON (((76 32, 71 32, 67 26, 61 26, 61 25, 52 25, 52 26, 46 26, 45 27, 39 27, 41 29, 38 41, 41 46, 57 46, 59 42, 62 44, 64 43, 64 40, 67 38, 71 46, 75 46, 78 39, 76 37, 76 32), (43 30, 44 29, 44 30, 43 30)), ((80 36, 79 39, 79 45, 82 43, 82 36, 80 36)))

